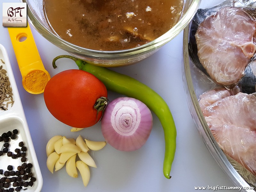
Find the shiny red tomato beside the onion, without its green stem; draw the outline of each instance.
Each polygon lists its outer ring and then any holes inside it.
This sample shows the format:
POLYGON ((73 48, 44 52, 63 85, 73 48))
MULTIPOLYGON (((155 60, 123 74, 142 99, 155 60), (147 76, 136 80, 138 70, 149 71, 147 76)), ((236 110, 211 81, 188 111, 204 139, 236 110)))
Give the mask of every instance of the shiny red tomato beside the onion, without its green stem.
POLYGON ((107 97, 105 85, 94 75, 70 69, 53 76, 44 89, 44 101, 50 113, 71 127, 85 128, 96 124, 101 116, 94 104, 107 97))

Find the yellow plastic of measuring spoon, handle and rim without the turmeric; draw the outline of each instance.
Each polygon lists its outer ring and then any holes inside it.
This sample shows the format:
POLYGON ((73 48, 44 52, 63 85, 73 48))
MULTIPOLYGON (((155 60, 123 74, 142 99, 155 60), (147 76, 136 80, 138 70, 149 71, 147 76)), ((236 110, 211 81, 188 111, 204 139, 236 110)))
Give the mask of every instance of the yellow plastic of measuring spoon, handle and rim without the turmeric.
POLYGON ((20 68, 24 89, 33 94, 44 92, 44 90, 40 92, 28 90, 24 83, 26 76, 35 70, 45 72, 48 76, 48 80, 51 78, 49 73, 44 68, 29 25, 27 24, 27 27, 8 27, 8 31, 20 68))

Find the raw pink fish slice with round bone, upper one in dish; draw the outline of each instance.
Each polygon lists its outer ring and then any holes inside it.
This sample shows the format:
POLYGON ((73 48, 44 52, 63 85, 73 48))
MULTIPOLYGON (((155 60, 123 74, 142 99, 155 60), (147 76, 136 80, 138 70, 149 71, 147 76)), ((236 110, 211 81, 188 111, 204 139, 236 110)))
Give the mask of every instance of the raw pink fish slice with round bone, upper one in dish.
POLYGON ((246 10, 222 7, 206 17, 195 34, 201 65, 214 82, 227 88, 239 82, 256 50, 256 22, 246 10))

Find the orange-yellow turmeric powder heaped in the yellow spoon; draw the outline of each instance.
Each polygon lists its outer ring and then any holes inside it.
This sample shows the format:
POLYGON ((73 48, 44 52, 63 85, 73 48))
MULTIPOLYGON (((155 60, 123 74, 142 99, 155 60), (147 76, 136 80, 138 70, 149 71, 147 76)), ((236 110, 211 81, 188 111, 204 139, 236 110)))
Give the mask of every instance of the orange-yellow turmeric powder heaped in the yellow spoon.
POLYGON ((30 72, 25 77, 25 86, 31 92, 41 92, 49 81, 47 74, 41 70, 30 72))

